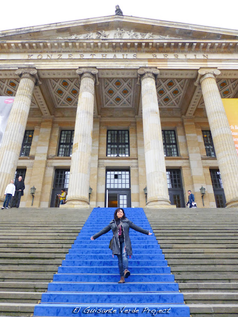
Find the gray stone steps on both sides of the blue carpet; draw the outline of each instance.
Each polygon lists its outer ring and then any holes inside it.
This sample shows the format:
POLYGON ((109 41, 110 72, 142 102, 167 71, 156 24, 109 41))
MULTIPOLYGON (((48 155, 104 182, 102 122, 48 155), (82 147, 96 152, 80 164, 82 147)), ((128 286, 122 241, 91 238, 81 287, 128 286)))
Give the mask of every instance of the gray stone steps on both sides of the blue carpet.
MULTIPOLYGON (((1 317, 33 313, 90 212, 1 210, 1 317)), ((238 317, 238 209, 145 212, 191 316, 238 317)))

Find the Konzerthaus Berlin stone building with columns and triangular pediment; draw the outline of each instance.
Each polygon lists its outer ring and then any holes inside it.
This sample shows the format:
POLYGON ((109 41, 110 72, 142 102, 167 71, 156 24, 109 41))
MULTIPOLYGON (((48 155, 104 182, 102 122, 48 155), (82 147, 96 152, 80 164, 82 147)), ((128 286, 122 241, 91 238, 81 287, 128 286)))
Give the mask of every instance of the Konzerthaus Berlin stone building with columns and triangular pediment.
POLYGON ((200 188, 205 208, 238 206, 223 106, 238 98, 238 31, 121 14, 2 31, 0 96, 14 97, 1 200, 21 175, 20 207, 33 185, 35 208, 62 188, 70 208, 179 208, 188 190, 202 208, 200 188))

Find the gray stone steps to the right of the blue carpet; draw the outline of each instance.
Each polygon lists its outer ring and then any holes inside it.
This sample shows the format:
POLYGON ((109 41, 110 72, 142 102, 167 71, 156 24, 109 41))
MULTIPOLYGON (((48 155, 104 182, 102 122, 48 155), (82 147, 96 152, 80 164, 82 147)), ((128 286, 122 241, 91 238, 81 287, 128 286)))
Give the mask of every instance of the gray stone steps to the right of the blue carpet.
POLYGON ((238 209, 145 209, 192 317, 238 317, 238 209))

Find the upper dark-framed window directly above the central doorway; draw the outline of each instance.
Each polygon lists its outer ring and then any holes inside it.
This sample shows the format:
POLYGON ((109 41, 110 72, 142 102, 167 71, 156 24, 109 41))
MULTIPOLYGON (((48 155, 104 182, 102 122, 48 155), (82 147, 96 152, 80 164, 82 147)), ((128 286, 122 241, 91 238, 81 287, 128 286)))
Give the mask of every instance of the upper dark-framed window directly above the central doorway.
POLYGON ((108 130, 107 157, 129 156, 129 131, 108 130))

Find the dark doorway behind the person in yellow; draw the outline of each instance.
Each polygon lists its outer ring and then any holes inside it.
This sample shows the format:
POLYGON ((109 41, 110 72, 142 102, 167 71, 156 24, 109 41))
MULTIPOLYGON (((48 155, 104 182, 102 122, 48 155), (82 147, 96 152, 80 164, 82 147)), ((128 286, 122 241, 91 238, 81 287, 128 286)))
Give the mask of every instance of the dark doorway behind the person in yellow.
POLYGON ((69 172, 69 169, 56 169, 51 196, 51 207, 59 207, 60 199, 57 194, 61 194, 61 189, 65 189, 66 192, 68 191, 69 172))

